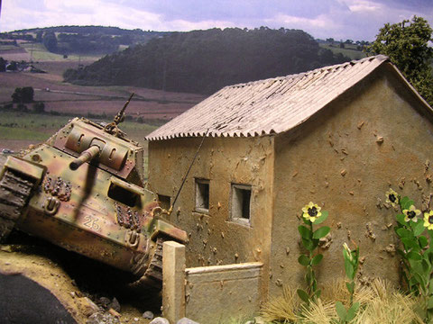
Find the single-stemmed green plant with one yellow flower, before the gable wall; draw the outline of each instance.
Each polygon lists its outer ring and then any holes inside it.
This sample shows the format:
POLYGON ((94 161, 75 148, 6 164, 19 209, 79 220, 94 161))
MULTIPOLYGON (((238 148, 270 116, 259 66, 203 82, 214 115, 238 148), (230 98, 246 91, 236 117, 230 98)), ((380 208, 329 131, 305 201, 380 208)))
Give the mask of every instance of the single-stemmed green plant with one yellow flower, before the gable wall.
POLYGON ((318 289, 318 281, 313 266, 317 266, 323 259, 323 255, 318 253, 319 239, 326 237, 330 231, 327 226, 314 230, 313 224, 318 225, 325 221, 327 214, 327 211, 321 211, 321 207, 317 204, 309 202, 308 205, 302 208, 302 220, 307 226, 299 225, 298 227, 302 245, 307 250, 306 254, 301 254, 298 258, 299 264, 306 267, 305 281, 307 290, 298 289, 297 293, 299 298, 308 305, 320 297, 321 291, 318 289))

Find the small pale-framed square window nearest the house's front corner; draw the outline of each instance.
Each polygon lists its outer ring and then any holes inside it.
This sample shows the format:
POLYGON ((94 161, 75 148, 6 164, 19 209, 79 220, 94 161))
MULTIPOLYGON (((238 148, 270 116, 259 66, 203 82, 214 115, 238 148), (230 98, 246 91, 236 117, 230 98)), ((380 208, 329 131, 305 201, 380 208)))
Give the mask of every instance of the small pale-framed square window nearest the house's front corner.
POLYGON ((232 184, 232 220, 250 225, 251 217, 251 185, 232 184))

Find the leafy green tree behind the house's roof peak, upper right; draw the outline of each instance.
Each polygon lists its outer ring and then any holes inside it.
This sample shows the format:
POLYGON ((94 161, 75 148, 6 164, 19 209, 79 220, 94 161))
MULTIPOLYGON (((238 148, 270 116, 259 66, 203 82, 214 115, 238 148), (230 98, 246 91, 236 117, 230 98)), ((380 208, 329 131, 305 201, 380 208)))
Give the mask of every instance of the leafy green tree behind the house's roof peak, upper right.
POLYGON ((433 49, 428 42, 432 40, 432 32, 428 22, 417 16, 411 22, 385 23, 367 48, 369 54, 388 56, 430 105, 433 105, 433 70, 429 61, 433 49))

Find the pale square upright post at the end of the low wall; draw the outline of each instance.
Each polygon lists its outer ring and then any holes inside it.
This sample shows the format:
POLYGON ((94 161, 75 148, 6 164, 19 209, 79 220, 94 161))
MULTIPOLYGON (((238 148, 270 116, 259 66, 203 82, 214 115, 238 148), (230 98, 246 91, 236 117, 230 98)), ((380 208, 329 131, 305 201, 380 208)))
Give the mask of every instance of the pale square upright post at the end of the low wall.
POLYGON ((170 323, 185 317, 185 246, 174 241, 162 248, 162 316, 170 323))

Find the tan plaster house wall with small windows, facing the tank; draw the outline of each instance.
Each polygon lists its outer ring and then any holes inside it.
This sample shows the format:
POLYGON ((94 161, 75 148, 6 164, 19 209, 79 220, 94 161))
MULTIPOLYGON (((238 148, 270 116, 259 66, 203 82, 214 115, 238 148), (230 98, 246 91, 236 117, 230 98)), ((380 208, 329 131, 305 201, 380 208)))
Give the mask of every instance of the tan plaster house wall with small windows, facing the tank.
MULTIPOLYGON (((200 141, 149 143, 152 191, 174 199, 200 141)), ((273 137, 205 139, 170 218, 189 234, 188 267, 260 261, 268 275, 273 164, 273 137), (195 177, 209 180, 208 214, 195 211, 195 177), (229 220, 232 183, 252 185, 251 227, 229 220)))

